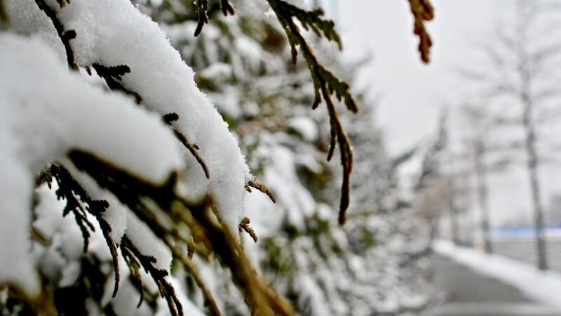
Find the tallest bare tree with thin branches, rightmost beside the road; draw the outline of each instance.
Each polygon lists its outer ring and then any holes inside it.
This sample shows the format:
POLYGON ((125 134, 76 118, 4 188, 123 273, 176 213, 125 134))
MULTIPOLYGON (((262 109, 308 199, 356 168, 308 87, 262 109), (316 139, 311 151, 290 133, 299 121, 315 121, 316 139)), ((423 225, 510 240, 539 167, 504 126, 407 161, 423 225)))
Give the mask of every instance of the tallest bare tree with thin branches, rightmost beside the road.
MULTIPOLYGON (((481 46, 490 65, 483 71, 471 70, 470 75, 485 84, 489 103, 516 104, 520 112, 515 123, 522 127, 532 209, 536 228, 538 267, 547 268, 546 244, 543 234, 543 206, 539 180, 538 123, 552 117, 552 110, 561 95, 558 68, 561 41, 548 36, 551 23, 559 22, 560 1, 515 1, 513 27, 497 27, 481 46)), ((484 152, 483 152, 484 154, 484 152)), ((480 166, 482 168, 483 165, 480 166)), ((482 194, 485 200, 485 194, 482 194)), ((485 202, 484 202, 485 203, 485 202)))

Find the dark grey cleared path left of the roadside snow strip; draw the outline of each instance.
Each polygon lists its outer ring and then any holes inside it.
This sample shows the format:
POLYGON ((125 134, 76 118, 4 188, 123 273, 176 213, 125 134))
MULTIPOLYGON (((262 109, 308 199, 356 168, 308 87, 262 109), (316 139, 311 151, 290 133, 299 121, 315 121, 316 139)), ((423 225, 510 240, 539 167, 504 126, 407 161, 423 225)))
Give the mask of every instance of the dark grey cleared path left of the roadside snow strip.
POLYGON ((560 311, 530 300, 518 289, 449 258, 433 255, 433 267, 435 287, 444 300, 421 316, 561 316, 560 311))

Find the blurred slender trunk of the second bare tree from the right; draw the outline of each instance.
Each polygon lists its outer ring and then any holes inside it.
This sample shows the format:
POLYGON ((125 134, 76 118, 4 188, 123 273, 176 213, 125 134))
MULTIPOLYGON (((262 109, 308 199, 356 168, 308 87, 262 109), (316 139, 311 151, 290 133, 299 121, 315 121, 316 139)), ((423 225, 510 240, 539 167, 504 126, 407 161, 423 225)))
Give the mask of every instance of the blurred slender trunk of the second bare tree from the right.
POLYGON ((481 210, 483 247, 487 254, 492 254, 493 247, 490 234, 489 202, 487 199, 489 188, 487 187, 487 168, 485 167, 485 145, 482 144, 482 140, 478 140, 475 143, 475 173, 477 178, 479 207, 481 210))

